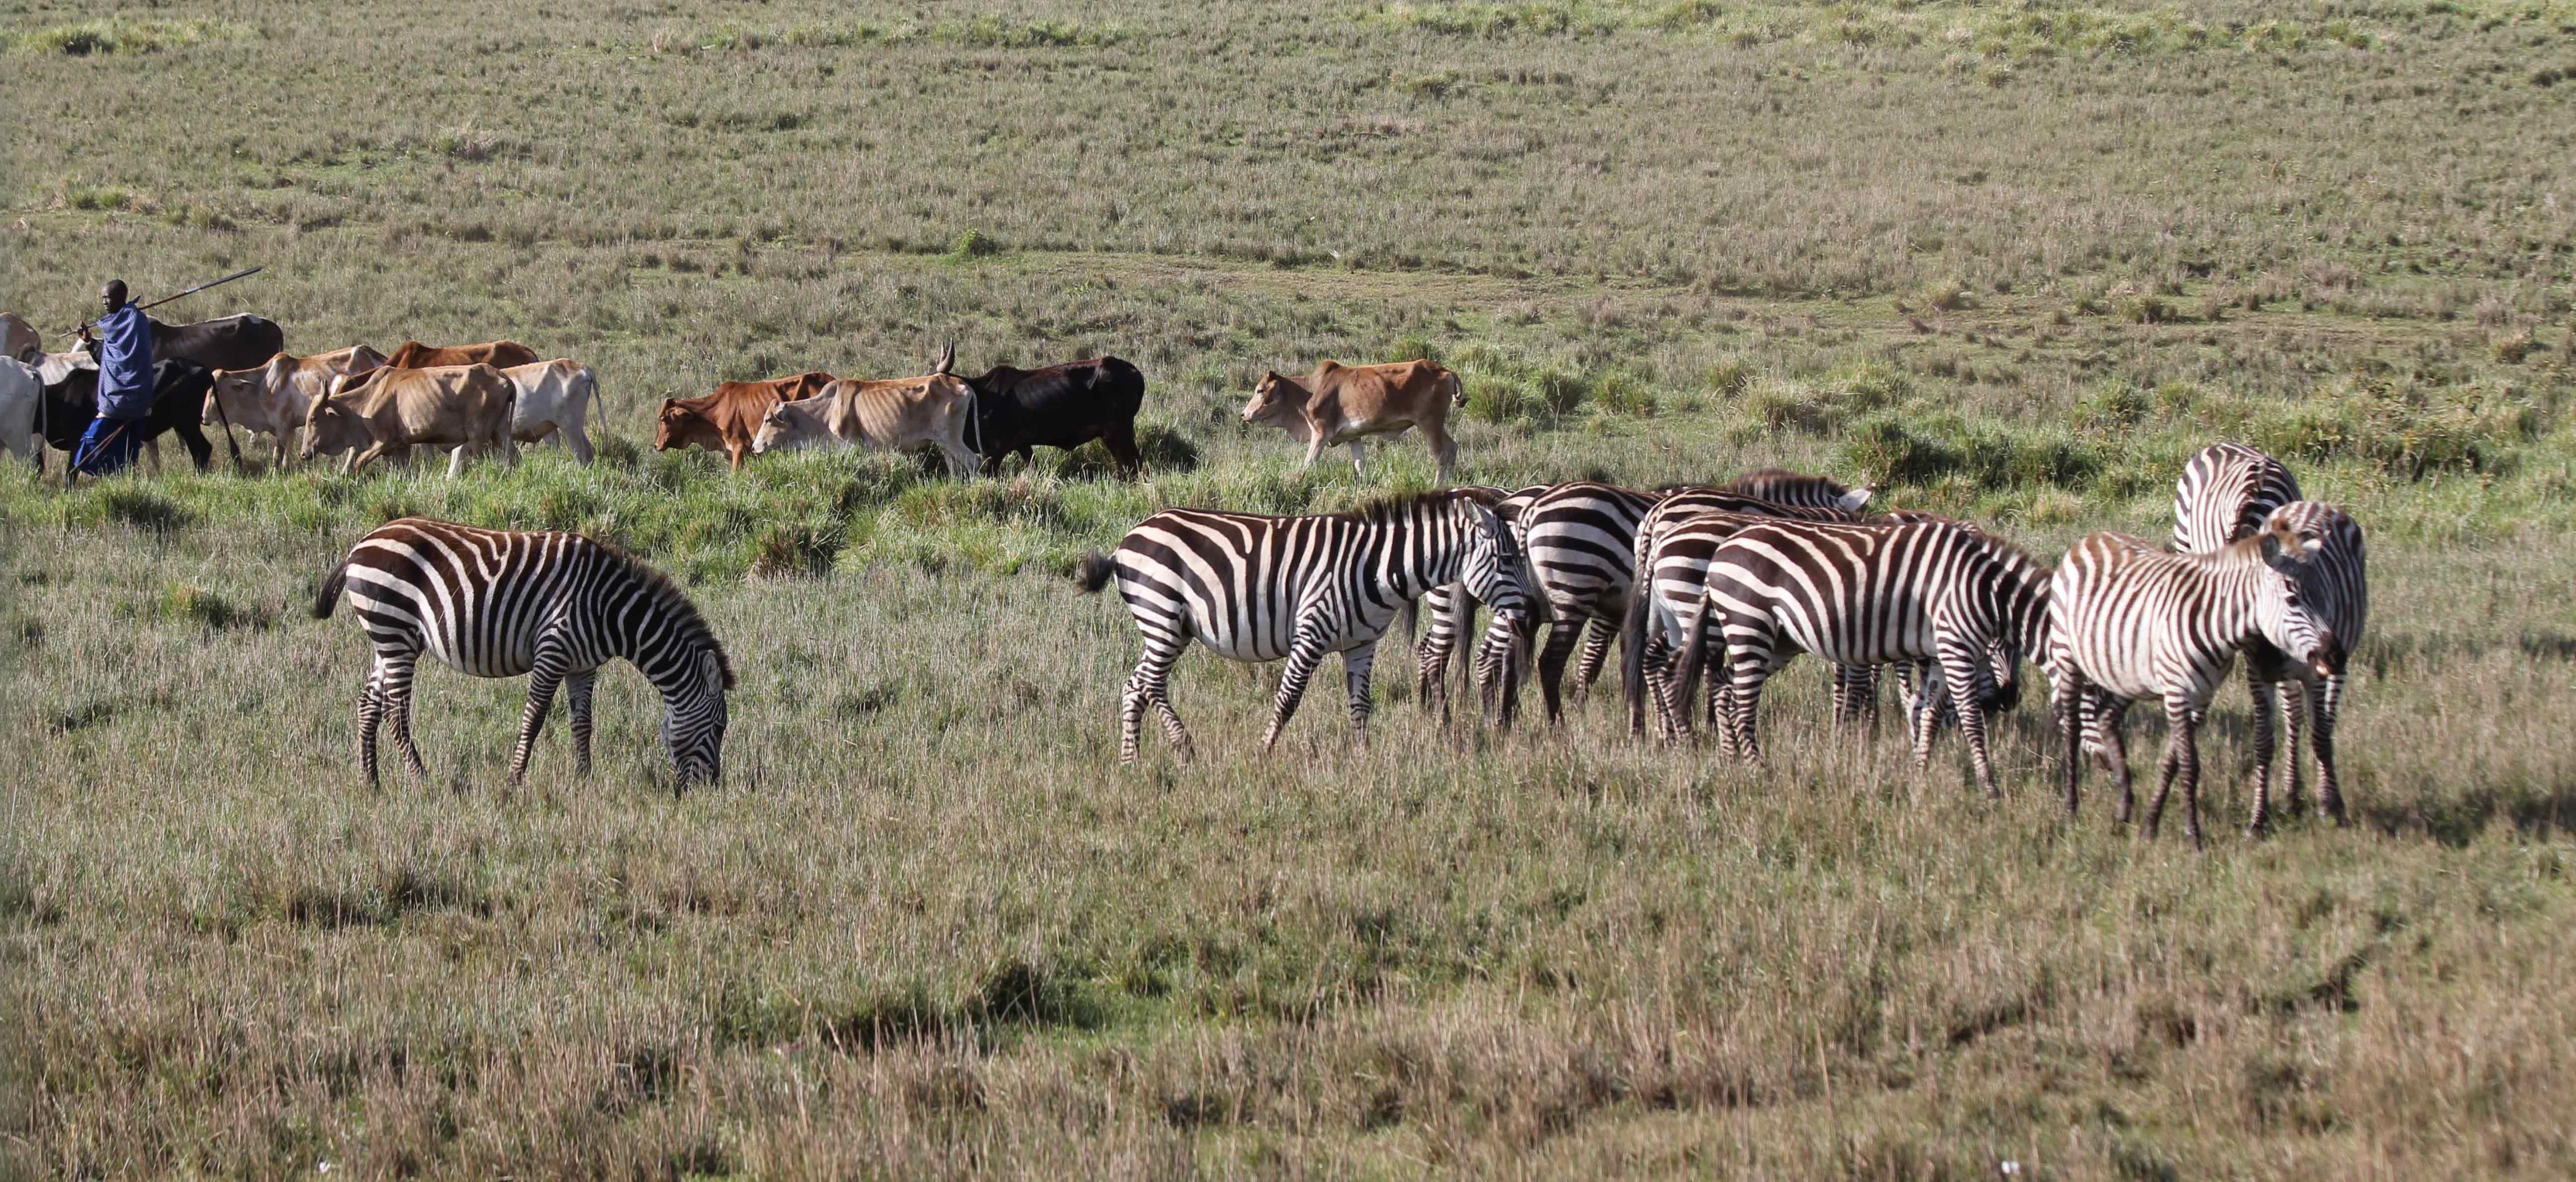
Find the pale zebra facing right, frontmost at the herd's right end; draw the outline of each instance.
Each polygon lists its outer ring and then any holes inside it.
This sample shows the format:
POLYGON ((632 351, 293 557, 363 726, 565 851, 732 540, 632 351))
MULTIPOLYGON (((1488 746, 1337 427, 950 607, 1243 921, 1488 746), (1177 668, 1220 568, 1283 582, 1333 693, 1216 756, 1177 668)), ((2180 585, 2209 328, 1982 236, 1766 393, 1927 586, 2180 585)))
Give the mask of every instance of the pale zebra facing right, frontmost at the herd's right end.
MULTIPOLYGON (((2357 538, 2334 525, 2339 510, 2293 502, 2264 518, 2251 538, 2239 538, 2210 554, 2169 554, 2143 538, 2094 533, 2066 551, 2050 587, 2048 677, 2050 698, 2066 742, 2066 814, 2076 811, 2084 773, 2087 731, 2120 788, 2125 824, 2136 793, 2128 775, 2128 744, 2120 721, 2128 703, 2156 698, 2172 734, 2159 762, 2156 803, 2146 811, 2146 832, 2156 834, 2164 801, 2182 780, 2184 827, 2192 845, 2200 837, 2200 718, 2210 695, 2236 664, 2236 649, 2269 644, 2287 662, 2308 664, 2318 677, 2342 672, 2342 639, 2331 633, 2318 597, 2334 597, 2336 569, 2357 556, 2334 554, 2357 538)), ((2349 518, 2344 518, 2349 520, 2349 518)), ((2254 695, 2257 716, 2267 693, 2254 695)), ((2257 762, 2269 765, 2272 731, 2254 729, 2257 762)), ((2257 824, 2262 821, 2257 803, 2257 824)))

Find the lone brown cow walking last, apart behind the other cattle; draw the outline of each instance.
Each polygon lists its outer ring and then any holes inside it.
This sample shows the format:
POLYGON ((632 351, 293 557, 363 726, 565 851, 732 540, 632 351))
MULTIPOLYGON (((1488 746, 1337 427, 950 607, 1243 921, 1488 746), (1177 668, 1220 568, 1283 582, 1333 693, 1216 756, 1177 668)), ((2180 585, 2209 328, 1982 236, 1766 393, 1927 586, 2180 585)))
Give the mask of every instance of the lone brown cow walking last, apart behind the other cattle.
POLYGON ((1327 361, 1314 376, 1296 381, 1270 371, 1252 402, 1244 404, 1244 422, 1267 422, 1306 443, 1306 466, 1329 446, 1350 446, 1350 471, 1360 471, 1368 458, 1368 435, 1396 435, 1404 427, 1422 427, 1440 461, 1440 479, 1458 466, 1458 440, 1448 435, 1450 407, 1466 404, 1458 373, 1430 361, 1396 361, 1386 366, 1342 366, 1327 361))

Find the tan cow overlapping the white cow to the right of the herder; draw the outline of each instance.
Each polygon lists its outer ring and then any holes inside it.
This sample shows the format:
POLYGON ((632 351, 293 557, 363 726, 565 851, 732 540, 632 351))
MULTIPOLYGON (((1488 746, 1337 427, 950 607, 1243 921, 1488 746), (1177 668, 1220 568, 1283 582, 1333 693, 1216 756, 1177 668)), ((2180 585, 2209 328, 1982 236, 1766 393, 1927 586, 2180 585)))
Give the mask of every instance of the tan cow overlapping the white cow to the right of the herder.
MULTIPOLYGON (((518 386, 492 366, 379 368, 363 389, 332 391, 304 412, 304 461, 348 451, 343 471, 358 471, 399 448, 456 448, 448 476, 466 466, 466 451, 497 451, 518 464, 510 412, 518 386)), ((340 379, 348 384, 348 379, 340 379)))

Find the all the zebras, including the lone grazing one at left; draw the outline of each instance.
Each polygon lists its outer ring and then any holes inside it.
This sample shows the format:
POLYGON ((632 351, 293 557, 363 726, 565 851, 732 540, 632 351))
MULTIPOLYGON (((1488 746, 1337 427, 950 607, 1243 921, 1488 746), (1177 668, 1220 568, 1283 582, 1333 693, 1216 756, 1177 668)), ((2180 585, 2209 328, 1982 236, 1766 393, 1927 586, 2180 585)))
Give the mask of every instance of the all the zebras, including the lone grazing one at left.
MULTIPOLYGON (((1510 726, 1533 664, 1558 721, 1577 649, 1582 690, 1620 641, 1631 731, 1646 729, 1651 706, 1667 739, 1690 734, 1705 677, 1705 721, 1723 749, 1759 760, 1762 685, 1808 652, 1834 667, 1837 724, 1875 718, 1878 670, 1891 667, 1917 765, 1955 721, 1989 796, 1986 729, 2020 700, 2030 659, 2048 675, 2063 734, 2069 816, 2081 765, 2097 760, 2120 788, 2120 821, 2130 819, 2123 716, 2141 698, 2159 700, 2172 734, 2146 832, 2179 780, 2195 845, 2197 729, 2241 652, 2257 747, 2249 829, 2259 834, 2272 816, 2275 713, 2287 716, 2293 752, 2287 806, 2300 806, 2306 724, 2318 803, 2344 819, 2334 716, 2367 610, 2362 530, 2344 510, 2300 500, 2277 458, 2210 446, 2174 489, 2172 546, 2094 533, 2056 569, 1973 523, 1865 515, 1868 500, 1868 489, 1765 469, 1726 487, 1659 492, 1458 487, 1303 518, 1162 510, 1115 551, 1087 556, 1077 577, 1090 592, 1115 582, 1144 636, 1121 693, 1123 762, 1139 757, 1149 708, 1177 755, 1190 755, 1170 695, 1190 641, 1236 662, 1285 662, 1262 739, 1275 744, 1327 654, 1342 654, 1350 724, 1365 729, 1378 641, 1399 618, 1427 618, 1417 688, 1448 713, 1450 659, 1476 636, 1481 608, 1492 623, 1461 672, 1473 670, 1499 726, 1510 726)), ((386 718, 407 767, 428 775, 410 734, 422 654, 477 677, 531 675, 513 783, 556 690, 569 695, 577 765, 590 767, 595 670, 618 657, 662 690, 662 739, 680 785, 721 775, 732 662, 670 579, 613 546, 402 518, 361 538, 322 579, 314 615, 330 615, 340 597, 376 649, 358 700, 368 783, 386 718)))

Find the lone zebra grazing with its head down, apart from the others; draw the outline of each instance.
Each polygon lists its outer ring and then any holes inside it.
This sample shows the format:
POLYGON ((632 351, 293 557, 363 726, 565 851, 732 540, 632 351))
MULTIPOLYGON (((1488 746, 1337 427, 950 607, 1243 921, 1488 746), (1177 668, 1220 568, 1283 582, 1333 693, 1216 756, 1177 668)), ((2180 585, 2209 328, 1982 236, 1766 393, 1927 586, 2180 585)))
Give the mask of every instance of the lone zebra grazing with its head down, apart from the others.
POLYGON ((590 688, 613 657, 662 690, 662 742, 680 785, 716 783, 724 770, 724 690, 734 688, 724 644, 680 587, 616 546, 580 533, 399 518, 358 538, 322 577, 314 618, 330 618, 343 592, 376 641, 376 667, 358 695, 358 762, 368 785, 386 713, 402 762, 430 775, 412 747, 412 670, 422 652, 474 677, 528 675, 510 783, 528 773, 556 685, 572 698, 572 760, 590 773, 590 688))

